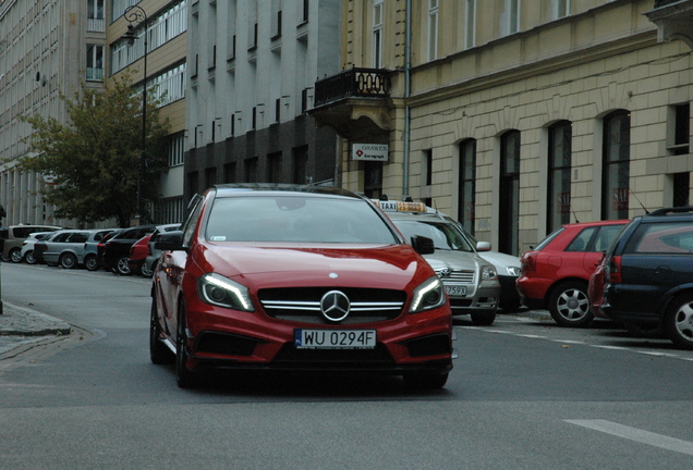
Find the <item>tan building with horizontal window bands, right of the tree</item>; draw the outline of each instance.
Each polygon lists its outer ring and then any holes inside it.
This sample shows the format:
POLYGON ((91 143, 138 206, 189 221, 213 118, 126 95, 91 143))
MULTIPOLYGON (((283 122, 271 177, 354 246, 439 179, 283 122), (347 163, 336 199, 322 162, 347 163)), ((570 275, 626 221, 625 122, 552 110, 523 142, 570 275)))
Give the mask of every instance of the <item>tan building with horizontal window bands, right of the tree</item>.
POLYGON ((170 123, 168 170, 159 178, 159 199, 147 202, 147 212, 155 223, 182 222, 190 0, 109 0, 108 7, 107 83, 133 72, 135 92, 146 81, 147 92, 162 102, 160 119, 170 123), (129 26, 132 44, 124 36, 129 26))

